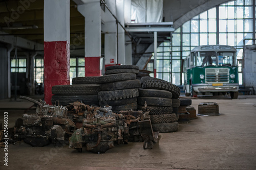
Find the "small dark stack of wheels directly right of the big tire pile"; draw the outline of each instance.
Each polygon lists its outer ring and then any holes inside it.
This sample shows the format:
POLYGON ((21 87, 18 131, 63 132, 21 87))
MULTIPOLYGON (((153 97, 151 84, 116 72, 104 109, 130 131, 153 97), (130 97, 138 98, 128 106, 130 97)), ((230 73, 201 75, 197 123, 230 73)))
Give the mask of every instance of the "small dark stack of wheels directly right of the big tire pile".
POLYGON ((187 112, 186 108, 191 104, 192 104, 191 99, 180 99, 180 107, 178 110, 178 114, 179 114, 178 123, 182 124, 182 123, 190 122, 189 112, 187 112))

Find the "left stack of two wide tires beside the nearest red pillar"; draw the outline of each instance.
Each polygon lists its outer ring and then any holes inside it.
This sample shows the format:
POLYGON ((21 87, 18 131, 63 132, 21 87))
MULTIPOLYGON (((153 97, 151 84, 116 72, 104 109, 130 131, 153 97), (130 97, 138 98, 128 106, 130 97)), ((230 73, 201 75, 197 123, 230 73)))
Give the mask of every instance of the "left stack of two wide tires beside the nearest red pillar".
POLYGON ((55 104, 56 100, 58 100, 62 106, 76 101, 86 105, 98 106, 99 91, 101 91, 99 84, 56 85, 52 87, 52 93, 54 94, 52 96, 52 104, 55 104))

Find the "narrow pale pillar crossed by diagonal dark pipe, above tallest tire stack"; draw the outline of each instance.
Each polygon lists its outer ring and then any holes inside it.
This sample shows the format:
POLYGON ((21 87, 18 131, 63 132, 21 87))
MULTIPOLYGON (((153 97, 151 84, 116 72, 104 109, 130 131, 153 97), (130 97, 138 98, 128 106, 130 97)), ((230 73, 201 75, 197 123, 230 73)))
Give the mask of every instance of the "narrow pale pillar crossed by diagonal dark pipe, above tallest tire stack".
MULTIPOLYGON (((124 0, 116 0, 116 17, 124 26, 124 0)), ((125 63, 124 30, 118 25, 118 64, 125 63)))

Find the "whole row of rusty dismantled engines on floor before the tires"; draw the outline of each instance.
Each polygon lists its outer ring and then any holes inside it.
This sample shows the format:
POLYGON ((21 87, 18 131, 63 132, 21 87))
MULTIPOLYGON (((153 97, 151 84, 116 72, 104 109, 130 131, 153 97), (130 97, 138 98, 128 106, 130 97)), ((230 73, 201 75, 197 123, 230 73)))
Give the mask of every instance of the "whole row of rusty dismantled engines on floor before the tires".
POLYGON ((158 141, 159 132, 152 130, 149 111, 114 113, 109 105, 100 108, 74 102, 65 107, 47 105, 45 101, 37 102, 25 96, 20 96, 20 99, 38 106, 36 114, 24 114, 23 118, 16 120, 13 137, 33 147, 68 141, 70 148, 79 152, 86 144, 87 151, 104 153, 115 144, 127 144, 135 141, 134 138, 144 142, 144 149, 152 149, 158 141), (81 123, 77 121, 79 119, 81 123))

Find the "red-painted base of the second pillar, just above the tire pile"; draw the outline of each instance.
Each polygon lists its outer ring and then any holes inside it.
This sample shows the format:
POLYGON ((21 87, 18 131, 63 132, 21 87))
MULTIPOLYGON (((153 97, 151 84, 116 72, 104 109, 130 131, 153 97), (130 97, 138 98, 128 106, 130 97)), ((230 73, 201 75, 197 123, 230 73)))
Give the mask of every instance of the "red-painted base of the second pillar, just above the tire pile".
POLYGON ((101 76, 101 69, 100 67, 100 57, 86 57, 84 59, 85 70, 86 70, 86 77, 89 76, 101 76))

